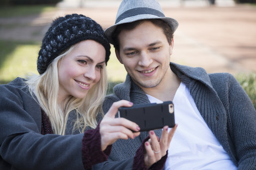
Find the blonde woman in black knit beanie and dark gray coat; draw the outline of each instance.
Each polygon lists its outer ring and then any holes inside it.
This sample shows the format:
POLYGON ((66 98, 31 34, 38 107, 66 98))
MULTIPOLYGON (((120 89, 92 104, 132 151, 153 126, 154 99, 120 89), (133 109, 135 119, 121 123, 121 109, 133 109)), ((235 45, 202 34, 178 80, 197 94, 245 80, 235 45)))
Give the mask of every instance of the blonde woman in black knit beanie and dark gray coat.
POLYGON ((115 103, 98 124, 109 55, 92 19, 72 14, 53 21, 39 51, 39 75, 0 86, 0 169, 88 169, 107 160, 117 139, 139 135, 137 124, 115 118, 129 101, 115 103))

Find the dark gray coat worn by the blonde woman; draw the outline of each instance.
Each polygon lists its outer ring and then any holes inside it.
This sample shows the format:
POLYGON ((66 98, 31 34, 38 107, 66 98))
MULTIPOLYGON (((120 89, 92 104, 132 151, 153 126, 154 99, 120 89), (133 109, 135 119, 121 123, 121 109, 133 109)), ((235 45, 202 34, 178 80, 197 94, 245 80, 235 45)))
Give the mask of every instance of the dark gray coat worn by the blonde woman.
MULTIPOLYGON (((1 170, 84 169, 82 161, 84 133, 42 135, 41 108, 30 95, 21 78, 9 84, 0 85, 0 91, 1 170)), ((72 126, 71 120, 72 117, 67 124, 70 126, 68 130, 72 126)), ((88 141, 91 141, 92 147, 97 143, 92 137, 88 141)), ((92 150, 90 157, 86 157, 90 159, 90 163, 102 156, 101 148, 94 146, 92 150)))

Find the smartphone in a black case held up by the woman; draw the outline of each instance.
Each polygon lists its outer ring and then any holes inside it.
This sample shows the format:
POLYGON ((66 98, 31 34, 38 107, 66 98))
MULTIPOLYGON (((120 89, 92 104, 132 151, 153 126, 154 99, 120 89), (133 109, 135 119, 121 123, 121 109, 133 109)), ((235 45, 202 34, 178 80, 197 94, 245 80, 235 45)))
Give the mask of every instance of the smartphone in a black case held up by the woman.
POLYGON ((157 104, 138 104, 132 107, 120 107, 118 116, 127 118, 140 126, 140 131, 162 129, 165 125, 173 128, 174 105, 172 101, 157 104))

